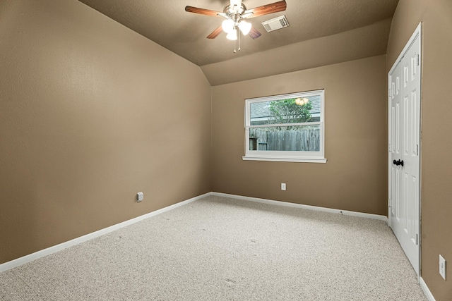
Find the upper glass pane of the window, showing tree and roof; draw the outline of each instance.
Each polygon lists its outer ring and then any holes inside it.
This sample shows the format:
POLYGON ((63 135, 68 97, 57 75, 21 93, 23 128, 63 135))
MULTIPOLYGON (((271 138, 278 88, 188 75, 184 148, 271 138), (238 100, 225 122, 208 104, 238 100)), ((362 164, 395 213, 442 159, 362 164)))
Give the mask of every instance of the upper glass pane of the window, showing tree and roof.
POLYGON ((250 104, 250 124, 304 123, 320 121, 321 96, 280 99, 250 104))

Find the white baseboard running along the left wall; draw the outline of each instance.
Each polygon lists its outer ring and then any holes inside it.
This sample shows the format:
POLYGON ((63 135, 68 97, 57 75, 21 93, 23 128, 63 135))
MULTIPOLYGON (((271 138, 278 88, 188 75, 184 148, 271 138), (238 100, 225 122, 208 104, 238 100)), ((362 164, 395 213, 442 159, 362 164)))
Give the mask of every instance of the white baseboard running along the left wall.
POLYGON ((125 226, 129 226, 129 225, 131 225, 133 223, 137 223, 138 221, 143 221, 143 219, 148 219, 151 216, 156 216, 157 214, 162 214, 163 212, 166 212, 166 211, 169 211, 171 209, 180 207, 180 206, 182 206, 184 204, 188 204, 188 203, 197 201, 198 199, 202 199, 203 197, 208 197, 209 195, 210 195, 210 192, 208 192, 208 193, 206 193, 204 195, 199 195, 198 197, 193 197, 191 199, 186 199, 185 201, 179 202, 177 204, 173 204, 171 206, 168 206, 168 207, 165 207, 165 208, 162 208, 162 209, 158 209, 156 211, 150 212, 148 214, 144 214, 142 216, 138 216, 138 217, 136 217, 134 219, 129 219, 128 221, 123 221, 122 223, 117 223, 116 225, 109 226, 107 228, 103 228, 103 229, 101 229, 99 231, 95 231, 95 232, 89 233, 87 235, 83 235, 83 236, 81 236, 79 238, 74 238, 73 240, 62 242, 59 245, 54 245, 52 247, 48 247, 47 249, 40 250, 40 251, 37 251, 37 252, 32 253, 32 254, 28 254, 28 255, 26 255, 24 257, 20 257, 18 259, 11 260, 11 262, 5 262, 4 264, 0 264, 0 272, 6 271, 8 269, 13 269, 16 266, 21 266, 22 264, 26 264, 28 262, 32 262, 35 259, 47 256, 47 255, 52 254, 54 252, 58 252, 58 251, 64 250, 64 249, 66 249, 68 247, 72 247, 73 245, 78 245, 81 242, 85 242, 87 240, 92 240, 93 238, 97 238, 97 237, 99 237, 101 235, 104 235, 104 234, 110 233, 112 231, 118 230, 119 228, 123 228, 125 226))

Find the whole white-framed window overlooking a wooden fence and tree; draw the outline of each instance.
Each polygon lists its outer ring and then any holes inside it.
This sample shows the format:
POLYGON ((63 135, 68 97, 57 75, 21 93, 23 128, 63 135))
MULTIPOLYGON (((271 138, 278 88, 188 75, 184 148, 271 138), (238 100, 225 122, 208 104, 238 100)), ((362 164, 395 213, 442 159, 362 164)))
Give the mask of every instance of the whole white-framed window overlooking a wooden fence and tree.
POLYGON ((244 160, 326 163, 325 90, 245 99, 244 160))

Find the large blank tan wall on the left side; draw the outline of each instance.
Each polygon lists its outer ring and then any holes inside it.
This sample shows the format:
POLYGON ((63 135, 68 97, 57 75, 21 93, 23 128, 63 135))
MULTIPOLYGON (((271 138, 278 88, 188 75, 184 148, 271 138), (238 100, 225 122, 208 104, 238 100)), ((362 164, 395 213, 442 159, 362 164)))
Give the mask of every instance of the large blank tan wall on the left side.
POLYGON ((1 0, 0 54, 0 264, 210 191, 198 66, 76 0, 1 0))

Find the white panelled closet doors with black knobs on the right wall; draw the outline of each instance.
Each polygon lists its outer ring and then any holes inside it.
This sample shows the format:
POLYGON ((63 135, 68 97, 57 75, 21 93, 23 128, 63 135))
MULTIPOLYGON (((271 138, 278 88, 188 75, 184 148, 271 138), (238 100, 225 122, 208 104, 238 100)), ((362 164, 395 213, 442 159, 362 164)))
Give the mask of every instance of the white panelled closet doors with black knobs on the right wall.
POLYGON ((389 224, 420 269, 420 27, 388 74, 389 224))

